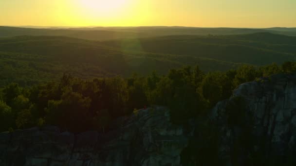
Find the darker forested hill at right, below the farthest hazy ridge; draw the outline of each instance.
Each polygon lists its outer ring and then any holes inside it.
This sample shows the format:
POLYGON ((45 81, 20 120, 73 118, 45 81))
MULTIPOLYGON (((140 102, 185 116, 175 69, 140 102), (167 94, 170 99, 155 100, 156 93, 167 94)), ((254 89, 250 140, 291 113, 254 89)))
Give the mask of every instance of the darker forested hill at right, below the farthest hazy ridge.
MULTIPOLYGON (((119 40, 103 43, 113 47, 122 45, 119 40)), ((218 36, 173 35, 130 39, 125 41, 124 49, 266 65, 273 62, 294 61, 296 37, 272 33, 218 36)))

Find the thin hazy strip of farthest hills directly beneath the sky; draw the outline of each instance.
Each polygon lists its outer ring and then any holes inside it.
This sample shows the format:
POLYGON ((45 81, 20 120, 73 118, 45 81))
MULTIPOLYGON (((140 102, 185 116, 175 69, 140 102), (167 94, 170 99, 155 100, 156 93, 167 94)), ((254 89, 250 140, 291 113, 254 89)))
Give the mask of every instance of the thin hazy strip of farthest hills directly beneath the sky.
POLYGON ((19 35, 68 36, 89 40, 157 37, 166 35, 230 35, 269 32, 296 36, 295 28, 195 28, 195 27, 94 27, 94 28, 19 28, 0 26, 0 37, 19 35))

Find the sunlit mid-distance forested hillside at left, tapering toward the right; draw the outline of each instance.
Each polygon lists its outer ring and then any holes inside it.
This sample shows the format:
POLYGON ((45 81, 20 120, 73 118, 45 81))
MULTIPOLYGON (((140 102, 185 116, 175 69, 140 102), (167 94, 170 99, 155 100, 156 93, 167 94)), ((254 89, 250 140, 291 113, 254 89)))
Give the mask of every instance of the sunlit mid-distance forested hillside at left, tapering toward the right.
POLYGON ((62 36, 19 36, 0 39, 0 85, 11 82, 32 85, 56 80, 63 73, 79 78, 130 76, 157 70, 199 65, 205 71, 227 70, 239 63, 168 55, 144 51, 124 51, 101 43, 62 36))

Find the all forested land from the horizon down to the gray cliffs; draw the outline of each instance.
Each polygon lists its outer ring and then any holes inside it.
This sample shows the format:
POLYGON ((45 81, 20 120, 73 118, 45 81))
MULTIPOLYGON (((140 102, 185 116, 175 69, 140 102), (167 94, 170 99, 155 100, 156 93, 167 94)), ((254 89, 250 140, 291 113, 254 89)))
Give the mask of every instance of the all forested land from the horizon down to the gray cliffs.
MULTIPOLYGON (((294 33, 282 28, 0 27, 0 132, 55 125, 62 132, 111 133, 114 119, 161 105, 184 133, 196 123, 198 132, 183 149, 182 164, 220 165, 220 137, 209 122, 210 111, 241 83, 295 73, 294 33)), ((243 103, 235 98, 226 105, 227 125, 247 127, 241 120, 243 103)), ((250 147, 250 140, 244 135, 238 147, 250 147)), ((253 156, 249 161, 260 165, 263 160, 253 156)))

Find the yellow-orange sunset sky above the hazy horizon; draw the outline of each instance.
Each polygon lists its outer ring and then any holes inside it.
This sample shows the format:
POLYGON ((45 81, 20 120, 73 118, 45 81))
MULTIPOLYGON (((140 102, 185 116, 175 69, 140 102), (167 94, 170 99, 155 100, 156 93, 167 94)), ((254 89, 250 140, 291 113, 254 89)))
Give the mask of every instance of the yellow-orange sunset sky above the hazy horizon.
POLYGON ((0 0, 0 25, 296 27, 296 0, 0 0))

